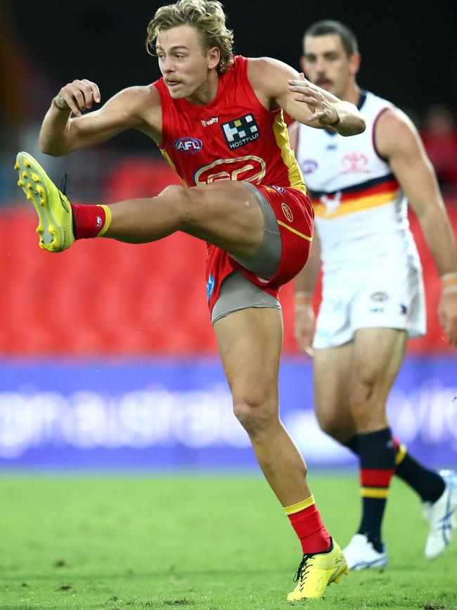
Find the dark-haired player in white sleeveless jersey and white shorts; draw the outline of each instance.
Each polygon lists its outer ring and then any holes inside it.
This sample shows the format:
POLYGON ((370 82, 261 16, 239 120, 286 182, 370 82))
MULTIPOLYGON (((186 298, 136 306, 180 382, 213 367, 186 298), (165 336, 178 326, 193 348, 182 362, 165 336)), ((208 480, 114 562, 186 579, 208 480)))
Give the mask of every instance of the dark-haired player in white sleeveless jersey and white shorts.
POLYGON ((311 257, 296 279, 296 337, 314 352, 318 422, 360 457, 362 517, 345 549, 349 568, 387 564, 381 521, 395 473, 424 502, 430 533, 425 556, 437 557, 453 534, 457 480, 425 469, 392 438, 387 395, 406 339, 425 333, 420 260, 408 227, 406 198, 418 215, 442 278, 439 316, 457 345, 457 260, 450 224, 415 127, 385 99, 356 84, 354 34, 321 21, 304 34, 302 69, 327 91, 352 101, 367 129, 355 138, 305 130, 291 141, 316 213, 311 257), (316 239, 316 237, 318 239, 316 239), (311 298, 323 261, 323 300, 313 348, 311 298))

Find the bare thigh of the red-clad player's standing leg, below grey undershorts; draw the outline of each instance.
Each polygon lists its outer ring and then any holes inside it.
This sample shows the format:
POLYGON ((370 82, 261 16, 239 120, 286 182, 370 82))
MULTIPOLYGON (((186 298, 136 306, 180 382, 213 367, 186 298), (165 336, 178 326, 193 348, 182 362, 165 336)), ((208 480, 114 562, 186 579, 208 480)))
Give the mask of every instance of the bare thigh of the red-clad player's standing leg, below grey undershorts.
POLYGON ((281 310, 238 310, 215 322, 214 331, 233 404, 243 402, 276 414, 283 343, 281 310))

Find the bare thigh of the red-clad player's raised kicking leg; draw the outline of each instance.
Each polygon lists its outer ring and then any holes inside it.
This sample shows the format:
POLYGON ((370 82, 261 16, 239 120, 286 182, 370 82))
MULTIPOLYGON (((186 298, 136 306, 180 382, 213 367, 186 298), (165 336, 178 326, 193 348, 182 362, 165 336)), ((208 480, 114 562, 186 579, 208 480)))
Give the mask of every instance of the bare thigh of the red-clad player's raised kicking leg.
POLYGON ((250 258, 262 245, 264 214, 254 194, 242 182, 221 180, 193 186, 186 189, 185 197, 181 225, 185 233, 239 258, 250 258))

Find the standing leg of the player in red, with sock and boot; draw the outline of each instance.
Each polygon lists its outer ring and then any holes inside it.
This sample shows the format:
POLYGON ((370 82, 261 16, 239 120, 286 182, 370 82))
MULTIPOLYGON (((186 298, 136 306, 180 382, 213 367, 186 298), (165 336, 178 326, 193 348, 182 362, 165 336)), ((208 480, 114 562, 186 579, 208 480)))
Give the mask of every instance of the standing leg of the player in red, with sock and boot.
POLYGON ((297 586, 288 599, 322 597, 329 583, 347 573, 347 564, 321 520, 302 456, 279 418, 281 311, 254 307, 236 311, 219 319, 214 330, 236 417, 302 545, 297 586))

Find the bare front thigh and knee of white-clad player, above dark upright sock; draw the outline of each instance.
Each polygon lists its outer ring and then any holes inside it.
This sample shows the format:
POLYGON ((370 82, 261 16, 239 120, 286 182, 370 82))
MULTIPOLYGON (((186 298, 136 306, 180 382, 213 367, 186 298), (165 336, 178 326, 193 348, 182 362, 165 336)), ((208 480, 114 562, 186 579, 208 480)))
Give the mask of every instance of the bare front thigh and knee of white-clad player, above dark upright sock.
POLYGON ((404 329, 380 327, 356 331, 350 374, 353 407, 366 403, 372 409, 385 409, 405 350, 404 329))

